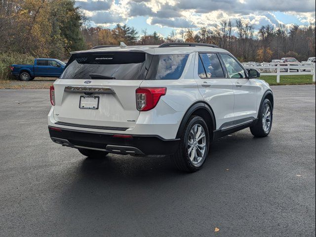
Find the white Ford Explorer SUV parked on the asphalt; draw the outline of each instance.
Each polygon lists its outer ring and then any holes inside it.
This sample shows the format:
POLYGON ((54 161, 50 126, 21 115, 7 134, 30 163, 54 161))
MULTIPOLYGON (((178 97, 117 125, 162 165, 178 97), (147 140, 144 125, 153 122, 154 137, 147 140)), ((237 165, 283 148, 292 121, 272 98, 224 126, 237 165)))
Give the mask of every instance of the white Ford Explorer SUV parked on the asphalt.
POLYGON ((50 88, 51 139, 87 157, 171 155, 196 171, 215 139, 269 134, 273 93, 212 44, 97 46, 72 53, 50 88))

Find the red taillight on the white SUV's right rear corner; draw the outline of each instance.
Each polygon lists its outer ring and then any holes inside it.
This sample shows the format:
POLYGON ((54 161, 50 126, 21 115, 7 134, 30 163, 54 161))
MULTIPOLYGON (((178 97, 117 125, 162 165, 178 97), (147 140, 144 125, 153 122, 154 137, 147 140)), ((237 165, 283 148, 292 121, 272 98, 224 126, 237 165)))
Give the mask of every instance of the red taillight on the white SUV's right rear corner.
POLYGON ((139 111, 149 111, 158 104, 161 96, 165 95, 166 87, 137 88, 136 108, 139 111))

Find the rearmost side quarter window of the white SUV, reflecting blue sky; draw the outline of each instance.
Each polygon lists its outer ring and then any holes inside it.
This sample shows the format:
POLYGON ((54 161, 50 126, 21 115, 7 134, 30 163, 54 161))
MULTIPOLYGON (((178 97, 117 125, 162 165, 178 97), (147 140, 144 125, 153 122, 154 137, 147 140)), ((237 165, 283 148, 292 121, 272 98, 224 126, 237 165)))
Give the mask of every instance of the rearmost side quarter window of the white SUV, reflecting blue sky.
POLYGON ((146 79, 179 79, 186 66, 189 54, 154 55, 146 79))

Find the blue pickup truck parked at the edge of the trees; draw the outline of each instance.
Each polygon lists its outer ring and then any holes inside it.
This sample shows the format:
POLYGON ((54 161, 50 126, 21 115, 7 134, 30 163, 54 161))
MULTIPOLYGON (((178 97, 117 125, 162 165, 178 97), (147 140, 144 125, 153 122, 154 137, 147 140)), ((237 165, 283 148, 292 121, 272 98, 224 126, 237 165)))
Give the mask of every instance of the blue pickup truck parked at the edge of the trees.
POLYGON ((33 80, 36 77, 59 78, 65 65, 58 59, 37 58, 33 65, 12 64, 10 69, 11 74, 20 80, 33 80))

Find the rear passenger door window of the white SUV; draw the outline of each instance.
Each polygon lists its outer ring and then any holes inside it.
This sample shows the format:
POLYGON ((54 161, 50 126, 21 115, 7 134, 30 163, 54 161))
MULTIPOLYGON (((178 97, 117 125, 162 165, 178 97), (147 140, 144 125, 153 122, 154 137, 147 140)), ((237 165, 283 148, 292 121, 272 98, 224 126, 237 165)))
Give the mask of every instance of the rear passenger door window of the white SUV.
MULTIPOLYGON (((217 54, 200 53, 199 57, 201 59, 201 63, 199 60, 198 75, 200 75, 200 72, 202 72, 202 70, 205 70, 204 76, 206 74, 206 78, 225 78, 225 74, 217 54)), ((202 77, 200 78, 204 78, 202 73, 201 76, 202 77)))

